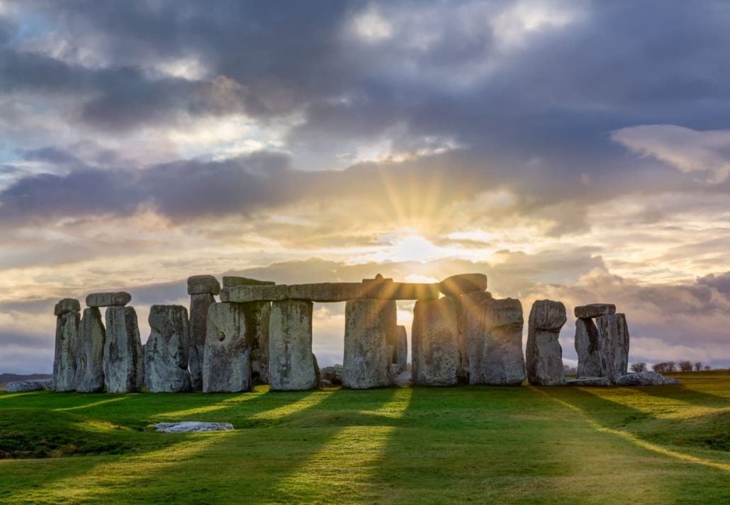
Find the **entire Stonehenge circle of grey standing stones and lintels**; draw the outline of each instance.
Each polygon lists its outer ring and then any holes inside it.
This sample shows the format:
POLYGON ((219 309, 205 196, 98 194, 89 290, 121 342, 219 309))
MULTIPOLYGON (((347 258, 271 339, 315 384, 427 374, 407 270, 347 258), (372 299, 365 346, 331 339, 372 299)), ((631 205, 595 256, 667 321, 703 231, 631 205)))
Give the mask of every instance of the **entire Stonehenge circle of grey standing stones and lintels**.
POLYGON ((441 282, 395 282, 378 274, 361 282, 279 285, 247 277, 188 278, 189 311, 150 307, 142 346, 130 293, 91 293, 55 304, 55 390, 183 393, 309 390, 326 385, 382 388, 407 381, 446 387, 578 387, 668 383, 627 375, 629 331, 612 304, 575 307, 578 371, 566 379, 558 341, 566 323, 560 301, 531 307, 523 352, 523 307, 494 298, 484 274, 441 282), (220 296, 220 301, 216 301, 220 296), (408 363, 407 328, 396 301, 415 300, 408 363), (312 353, 313 304, 345 302, 342 365, 320 370, 312 353), (100 308, 106 307, 105 324, 100 308))

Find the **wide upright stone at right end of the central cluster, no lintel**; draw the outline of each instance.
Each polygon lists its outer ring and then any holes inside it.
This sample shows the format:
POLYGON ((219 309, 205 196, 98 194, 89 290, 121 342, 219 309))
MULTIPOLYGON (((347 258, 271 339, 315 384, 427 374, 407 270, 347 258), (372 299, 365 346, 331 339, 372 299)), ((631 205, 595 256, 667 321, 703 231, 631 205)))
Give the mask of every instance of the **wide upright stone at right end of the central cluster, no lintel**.
POLYGON ((518 386, 525 379, 522 304, 519 300, 477 296, 469 300, 464 334, 468 343, 469 384, 518 386), (477 306, 477 302, 480 304, 477 306))

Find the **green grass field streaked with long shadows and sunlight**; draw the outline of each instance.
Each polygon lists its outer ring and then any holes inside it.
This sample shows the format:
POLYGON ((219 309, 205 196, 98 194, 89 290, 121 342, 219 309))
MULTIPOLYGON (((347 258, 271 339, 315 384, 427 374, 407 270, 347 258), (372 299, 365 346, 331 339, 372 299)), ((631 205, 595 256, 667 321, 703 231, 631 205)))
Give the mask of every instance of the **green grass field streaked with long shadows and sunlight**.
POLYGON ((730 374, 659 388, 0 393, 0 503, 730 503, 730 374), (154 433, 161 421, 236 431, 154 433))

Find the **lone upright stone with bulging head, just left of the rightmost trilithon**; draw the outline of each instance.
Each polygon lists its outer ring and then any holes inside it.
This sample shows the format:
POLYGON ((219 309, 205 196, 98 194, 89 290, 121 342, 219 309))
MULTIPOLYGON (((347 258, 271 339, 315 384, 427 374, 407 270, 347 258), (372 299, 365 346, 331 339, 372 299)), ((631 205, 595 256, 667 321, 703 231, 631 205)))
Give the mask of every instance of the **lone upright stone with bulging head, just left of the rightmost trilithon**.
POLYGON ((558 342, 566 322, 560 301, 538 300, 532 304, 527 331, 527 379, 531 385, 565 384, 563 350, 558 342))

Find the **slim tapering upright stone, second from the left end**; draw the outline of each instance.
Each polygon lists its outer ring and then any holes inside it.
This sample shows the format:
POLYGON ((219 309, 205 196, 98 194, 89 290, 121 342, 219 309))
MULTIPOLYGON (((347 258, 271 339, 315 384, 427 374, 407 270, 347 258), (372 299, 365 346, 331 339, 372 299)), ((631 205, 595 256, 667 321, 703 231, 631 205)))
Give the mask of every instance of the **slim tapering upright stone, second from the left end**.
POLYGON ((99 307, 84 309, 76 352, 76 390, 80 393, 104 391, 104 342, 107 331, 101 323, 99 307))

